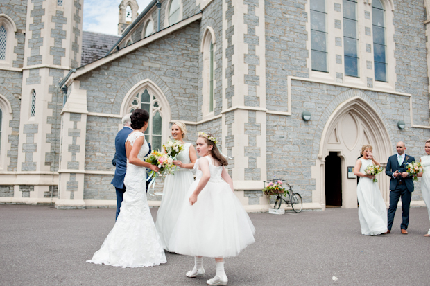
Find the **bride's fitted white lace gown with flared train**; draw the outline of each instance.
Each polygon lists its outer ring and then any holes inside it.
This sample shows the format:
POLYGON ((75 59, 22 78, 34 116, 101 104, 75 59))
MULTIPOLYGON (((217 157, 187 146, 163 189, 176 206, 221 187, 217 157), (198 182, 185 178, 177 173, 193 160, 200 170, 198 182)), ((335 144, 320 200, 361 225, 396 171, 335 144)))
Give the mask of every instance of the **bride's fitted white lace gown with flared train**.
MULTIPOLYGON (((127 141, 133 145, 140 136, 144 134, 132 132, 127 141)), ((145 140, 137 157, 143 160, 148 151, 149 146, 145 140)), ((146 168, 127 161, 124 184, 126 193, 117 222, 100 250, 87 262, 121 267, 148 267, 166 263, 162 243, 146 200, 146 168)))

